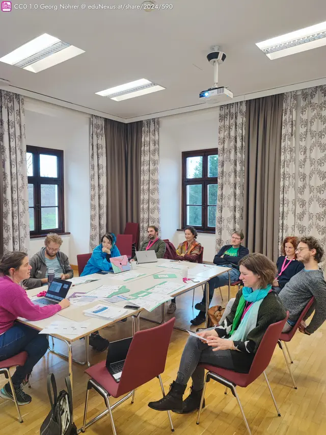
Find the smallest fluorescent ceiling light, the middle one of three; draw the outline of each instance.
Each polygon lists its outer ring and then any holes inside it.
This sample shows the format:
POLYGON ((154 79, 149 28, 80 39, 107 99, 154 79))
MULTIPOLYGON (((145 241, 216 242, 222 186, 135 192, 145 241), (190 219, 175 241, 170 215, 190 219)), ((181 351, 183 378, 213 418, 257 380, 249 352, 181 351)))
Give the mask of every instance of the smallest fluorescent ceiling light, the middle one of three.
POLYGON ((122 101, 124 99, 150 94, 151 92, 161 91, 162 89, 165 88, 156 85, 156 83, 152 83, 147 79, 140 79, 95 93, 103 97, 111 98, 115 101, 122 101))

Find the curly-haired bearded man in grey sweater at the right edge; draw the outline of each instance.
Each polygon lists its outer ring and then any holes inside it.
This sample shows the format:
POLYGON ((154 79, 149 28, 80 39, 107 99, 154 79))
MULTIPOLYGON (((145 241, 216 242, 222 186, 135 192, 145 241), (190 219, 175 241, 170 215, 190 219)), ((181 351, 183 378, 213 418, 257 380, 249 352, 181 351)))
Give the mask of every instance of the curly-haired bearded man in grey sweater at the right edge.
POLYGON ((314 237, 303 237, 298 244, 296 259, 301 261, 305 268, 292 276, 279 293, 285 309, 290 312, 283 332, 292 329, 312 296, 315 301, 305 319, 313 311, 315 314, 308 326, 302 322, 300 331, 311 335, 326 320, 326 282, 322 270, 318 267, 323 254, 324 250, 321 244, 314 237))

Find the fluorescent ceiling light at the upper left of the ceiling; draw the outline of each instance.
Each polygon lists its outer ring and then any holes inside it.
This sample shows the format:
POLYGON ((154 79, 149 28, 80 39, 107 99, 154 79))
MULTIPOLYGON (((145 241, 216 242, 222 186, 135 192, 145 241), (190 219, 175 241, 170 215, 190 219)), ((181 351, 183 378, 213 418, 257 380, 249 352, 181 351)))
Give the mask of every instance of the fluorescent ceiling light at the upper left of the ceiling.
POLYGON ((82 53, 85 51, 44 33, 0 58, 0 61, 39 72, 82 53))

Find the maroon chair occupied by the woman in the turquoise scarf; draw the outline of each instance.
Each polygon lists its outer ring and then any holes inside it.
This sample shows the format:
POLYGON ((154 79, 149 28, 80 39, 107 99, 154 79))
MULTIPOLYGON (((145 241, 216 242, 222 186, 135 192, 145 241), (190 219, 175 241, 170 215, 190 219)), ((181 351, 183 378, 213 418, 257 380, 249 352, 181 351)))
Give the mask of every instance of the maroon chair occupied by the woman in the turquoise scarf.
POLYGON ((260 345, 257 349, 257 352, 254 356, 254 360, 253 360, 253 363, 251 365, 249 373, 238 373, 238 372, 234 372, 232 370, 220 369, 219 367, 214 367, 214 366, 211 366, 209 364, 200 364, 200 366, 203 367, 204 369, 208 370, 208 372, 206 373, 205 385, 203 388, 202 398, 201 398, 200 407, 199 407, 199 411, 198 411, 197 424, 199 424, 200 413, 201 413, 202 407, 203 407, 206 385, 207 385, 207 382, 209 382, 210 379, 212 379, 212 380, 216 380, 216 381, 222 383, 222 385, 224 385, 226 387, 225 394, 227 392, 227 388, 230 388, 233 396, 236 398, 236 400, 238 402, 244 424, 246 424, 249 435, 251 435, 251 431, 250 431, 246 416, 244 415, 239 396, 236 392, 236 386, 243 387, 243 388, 248 387, 262 373, 265 376, 267 386, 268 386, 271 398, 274 401, 274 405, 276 407, 276 411, 278 413, 278 416, 281 415, 279 408, 277 406, 277 403, 275 401, 273 392, 271 391, 271 388, 270 388, 270 385, 269 385, 269 382, 268 382, 268 379, 267 379, 267 376, 265 373, 265 369, 268 366, 268 364, 271 360, 271 357, 273 356, 273 352, 275 350, 275 347, 276 347, 278 340, 280 338, 280 334, 282 332, 282 329, 283 329, 288 317, 289 317, 289 313, 287 312, 285 319, 283 319, 277 323, 272 323, 271 325, 268 326, 268 328, 264 334, 264 337, 261 340, 260 345))

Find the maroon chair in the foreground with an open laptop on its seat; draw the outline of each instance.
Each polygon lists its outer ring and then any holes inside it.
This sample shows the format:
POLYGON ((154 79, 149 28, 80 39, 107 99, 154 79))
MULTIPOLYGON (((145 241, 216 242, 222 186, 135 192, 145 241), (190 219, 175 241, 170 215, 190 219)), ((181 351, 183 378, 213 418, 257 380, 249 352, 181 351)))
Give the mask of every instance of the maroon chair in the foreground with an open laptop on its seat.
MULTIPOLYGON (((154 328, 135 332, 123 365, 119 382, 116 382, 114 377, 107 371, 105 361, 102 361, 85 371, 91 379, 87 384, 84 422, 82 428, 83 432, 91 424, 95 423, 95 421, 99 420, 104 415, 109 414, 113 433, 114 435, 117 435, 112 411, 116 406, 120 405, 120 403, 124 402, 131 396, 131 403, 133 403, 135 389, 154 377, 158 378, 162 394, 165 396, 160 374, 163 373, 165 369, 174 322, 175 317, 154 328), (94 388, 94 390, 104 398, 107 410, 86 424, 88 396, 91 388, 94 388), (114 405, 110 405, 110 396, 119 397, 126 393, 128 393, 126 396, 114 405)), ((169 411, 168 417, 171 430, 174 431, 169 411)))

